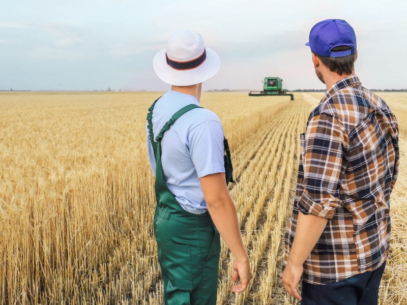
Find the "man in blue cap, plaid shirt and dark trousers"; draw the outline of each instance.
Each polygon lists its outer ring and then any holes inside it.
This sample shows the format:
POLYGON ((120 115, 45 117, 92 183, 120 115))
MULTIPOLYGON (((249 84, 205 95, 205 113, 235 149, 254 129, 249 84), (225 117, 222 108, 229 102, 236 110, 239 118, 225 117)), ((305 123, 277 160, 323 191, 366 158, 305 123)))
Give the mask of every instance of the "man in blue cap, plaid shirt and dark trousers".
POLYGON ((303 305, 377 304, 398 174, 397 120, 355 75, 350 24, 318 22, 306 45, 327 92, 301 135, 282 281, 303 305))

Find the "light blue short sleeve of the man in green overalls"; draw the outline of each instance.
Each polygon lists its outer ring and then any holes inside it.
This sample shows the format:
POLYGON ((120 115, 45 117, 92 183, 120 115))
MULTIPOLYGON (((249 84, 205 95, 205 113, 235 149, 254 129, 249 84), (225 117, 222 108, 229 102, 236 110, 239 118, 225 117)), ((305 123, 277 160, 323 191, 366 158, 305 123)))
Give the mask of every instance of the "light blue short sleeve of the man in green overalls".
POLYGON ((188 133, 188 148, 198 177, 224 173, 223 128, 217 120, 205 120, 188 133))

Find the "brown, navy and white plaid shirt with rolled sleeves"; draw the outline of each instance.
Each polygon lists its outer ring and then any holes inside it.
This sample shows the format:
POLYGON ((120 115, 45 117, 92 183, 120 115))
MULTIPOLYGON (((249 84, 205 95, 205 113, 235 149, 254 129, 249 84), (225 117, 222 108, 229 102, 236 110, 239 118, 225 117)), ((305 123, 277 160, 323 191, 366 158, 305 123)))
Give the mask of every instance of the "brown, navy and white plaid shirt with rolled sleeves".
POLYGON ((390 193, 398 164, 398 127, 389 106, 356 75, 339 80, 301 135, 283 268, 299 211, 328 219, 304 262, 304 281, 329 284, 380 267, 389 255, 390 193))

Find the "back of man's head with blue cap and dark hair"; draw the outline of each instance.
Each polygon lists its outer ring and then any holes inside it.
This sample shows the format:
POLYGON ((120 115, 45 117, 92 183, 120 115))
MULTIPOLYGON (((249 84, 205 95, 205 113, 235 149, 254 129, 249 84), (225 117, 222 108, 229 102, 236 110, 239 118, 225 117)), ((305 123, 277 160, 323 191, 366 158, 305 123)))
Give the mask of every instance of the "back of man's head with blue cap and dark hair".
POLYGON ((330 71, 349 75, 356 60, 356 35, 345 20, 327 19, 316 23, 306 43, 330 71))

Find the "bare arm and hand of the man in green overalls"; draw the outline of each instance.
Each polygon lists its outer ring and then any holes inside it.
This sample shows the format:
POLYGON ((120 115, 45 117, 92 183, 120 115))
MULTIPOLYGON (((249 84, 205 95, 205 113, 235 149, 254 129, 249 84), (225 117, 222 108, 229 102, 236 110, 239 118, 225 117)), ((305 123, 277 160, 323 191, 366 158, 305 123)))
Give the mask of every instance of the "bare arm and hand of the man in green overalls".
POLYGON ((234 285, 232 291, 242 292, 247 288, 253 275, 240 234, 236 207, 226 186, 225 174, 211 174, 199 180, 209 214, 227 247, 235 256, 232 280, 236 282, 240 278, 240 283, 234 285))

